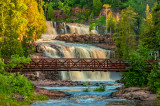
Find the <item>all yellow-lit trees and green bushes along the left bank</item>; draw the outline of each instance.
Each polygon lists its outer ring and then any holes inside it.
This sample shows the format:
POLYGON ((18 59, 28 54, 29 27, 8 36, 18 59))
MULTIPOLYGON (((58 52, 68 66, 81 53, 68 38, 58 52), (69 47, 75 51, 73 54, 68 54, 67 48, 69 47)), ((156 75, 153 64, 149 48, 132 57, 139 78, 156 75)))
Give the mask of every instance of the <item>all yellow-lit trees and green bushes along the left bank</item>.
POLYGON ((33 84, 19 73, 4 72, 29 64, 34 40, 46 31, 42 1, 0 1, 0 105, 17 106, 31 104, 48 98, 34 92, 33 84))

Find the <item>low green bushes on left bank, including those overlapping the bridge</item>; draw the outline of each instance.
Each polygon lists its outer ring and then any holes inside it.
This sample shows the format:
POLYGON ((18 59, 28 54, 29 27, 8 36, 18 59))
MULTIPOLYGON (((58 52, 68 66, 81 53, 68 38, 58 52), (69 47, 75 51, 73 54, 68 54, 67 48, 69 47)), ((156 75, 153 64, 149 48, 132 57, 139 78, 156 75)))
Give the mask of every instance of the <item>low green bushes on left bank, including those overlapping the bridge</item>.
POLYGON ((26 105, 36 100, 48 100, 46 96, 34 93, 34 85, 20 73, 7 73, 8 69, 29 64, 31 59, 11 56, 5 64, 0 61, 0 105, 26 105), (3 71, 2 71, 3 70, 3 71))

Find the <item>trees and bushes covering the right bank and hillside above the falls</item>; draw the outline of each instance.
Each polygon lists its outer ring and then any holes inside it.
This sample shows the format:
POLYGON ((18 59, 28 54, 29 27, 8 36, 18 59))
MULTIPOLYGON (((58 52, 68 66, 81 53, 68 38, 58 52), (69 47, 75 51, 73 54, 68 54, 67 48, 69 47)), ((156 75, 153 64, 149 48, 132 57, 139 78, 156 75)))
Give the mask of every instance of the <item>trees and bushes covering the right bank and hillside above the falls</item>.
MULTIPOLYGON (((154 93, 160 87, 159 63, 149 66, 146 60, 158 59, 160 51, 160 1, 159 0, 51 0, 54 10, 61 10, 66 22, 90 22, 90 32, 94 26, 105 26, 115 41, 115 58, 129 59, 129 72, 123 73, 121 80, 125 87, 149 87, 154 93), (64 9, 54 4, 63 5, 64 9), (107 18, 101 16, 103 5, 108 4, 107 18), (73 10, 83 11, 74 13, 73 10), (85 9, 87 10, 85 10, 85 9), (85 12, 90 11, 90 15, 85 12), (72 13, 73 12, 73 13, 72 13), (79 15, 75 15, 79 14, 79 15), (74 18, 73 18, 74 17, 74 18), (80 18, 85 17, 85 19, 80 18), (94 25, 94 26, 93 26, 94 25), (152 54, 152 55, 149 55, 152 54), (157 56, 157 58, 155 58, 157 56), (151 73, 147 72, 151 70, 151 73)), ((105 10, 105 9, 104 9, 105 10)), ((48 13, 49 14, 49 13, 48 13)), ((54 17, 52 17, 54 18, 54 17)), ((56 21, 56 19, 54 19, 56 21)))

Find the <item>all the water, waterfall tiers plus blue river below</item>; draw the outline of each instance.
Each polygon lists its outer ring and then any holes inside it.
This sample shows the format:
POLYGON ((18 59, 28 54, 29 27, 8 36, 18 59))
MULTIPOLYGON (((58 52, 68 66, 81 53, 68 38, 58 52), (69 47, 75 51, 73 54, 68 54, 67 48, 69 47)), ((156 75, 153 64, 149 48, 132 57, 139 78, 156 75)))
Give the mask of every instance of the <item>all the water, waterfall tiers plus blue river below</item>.
MULTIPOLYGON (((88 33, 88 26, 63 24, 65 26, 60 29, 61 32, 75 32, 77 34, 88 33), (70 31, 67 31, 67 29, 70 31)), ((42 39, 37 43, 43 48, 44 55, 50 58, 110 58, 110 50, 104 50, 92 45, 66 43, 62 41, 53 40, 58 36, 59 29, 53 22, 47 22, 48 32, 42 36, 42 39), (52 40, 51 40, 52 39, 52 40)), ((110 97, 121 84, 115 82, 121 78, 120 73, 116 72, 61 72, 62 80, 72 81, 85 81, 85 83, 103 83, 106 85, 106 91, 95 92, 93 91, 97 86, 94 84, 84 86, 71 86, 71 87, 42 87, 45 89, 52 89, 54 91, 63 91, 71 94, 71 96, 59 99, 51 99, 48 101, 37 101, 30 106, 139 106, 140 103, 128 101, 126 99, 118 99, 110 97), (105 80, 105 81, 103 81, 105 80), (88 82, 91 81, 91 82, 88 82), (88 88, 90 92, 83 92, 88 88)), ((145 106, 144 104, 142 104, 145 106)))

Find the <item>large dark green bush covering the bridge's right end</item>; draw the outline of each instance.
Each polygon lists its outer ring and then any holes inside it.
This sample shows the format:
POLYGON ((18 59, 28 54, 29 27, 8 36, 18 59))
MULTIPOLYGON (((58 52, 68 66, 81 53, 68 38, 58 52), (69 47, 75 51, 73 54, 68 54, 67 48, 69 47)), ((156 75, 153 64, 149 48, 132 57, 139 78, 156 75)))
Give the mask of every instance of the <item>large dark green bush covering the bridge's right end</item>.
POLYGON ((125 87, 145 87, 147 85, 147 63, 142 55, 138 52, 133 52, 129 55, 129 72, 122 73, 121 81, 125 87))

